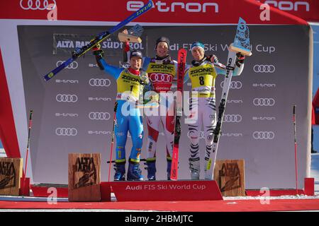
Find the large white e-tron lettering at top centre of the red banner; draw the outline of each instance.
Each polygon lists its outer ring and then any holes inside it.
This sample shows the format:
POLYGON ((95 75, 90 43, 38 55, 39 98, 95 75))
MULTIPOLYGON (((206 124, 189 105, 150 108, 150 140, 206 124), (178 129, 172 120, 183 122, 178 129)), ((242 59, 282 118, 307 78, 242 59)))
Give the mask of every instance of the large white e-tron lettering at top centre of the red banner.
MULTIPOLYGON (((176 10, 184 9, 189 13, 218 13, 219 6, 216 2, 163 2, 163 1, 153 1, 153 8, 156 8, 157 11, 161 13, 172 13, 176 10)), ((126 9, 128 11, 138 11, 139 8, 144 6, 143 1, 128 1, 126 4, 126 9)))

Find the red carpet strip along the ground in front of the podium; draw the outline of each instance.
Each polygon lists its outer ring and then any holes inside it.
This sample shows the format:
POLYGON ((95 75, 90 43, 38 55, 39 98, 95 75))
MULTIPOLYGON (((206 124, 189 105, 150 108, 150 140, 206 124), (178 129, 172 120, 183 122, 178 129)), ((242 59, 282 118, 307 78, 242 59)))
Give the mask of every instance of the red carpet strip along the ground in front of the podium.
POLYGON ((0 201, 0 209, 110 209, 110 210, 160 210, 186 212, 246 212, 246 211, 288 211, 319 210, 319 199, 269 200, 269 204, 259 200, 230 201, 152 201, 152 202, 100 202, 68 203, 0 201))

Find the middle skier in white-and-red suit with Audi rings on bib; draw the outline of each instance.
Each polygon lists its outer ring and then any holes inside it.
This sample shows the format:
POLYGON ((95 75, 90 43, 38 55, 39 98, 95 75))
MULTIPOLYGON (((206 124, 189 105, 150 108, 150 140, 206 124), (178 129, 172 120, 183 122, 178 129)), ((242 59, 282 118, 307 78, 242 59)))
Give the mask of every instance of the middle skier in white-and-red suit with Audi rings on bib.
MULTIPOLYGON (((128 42, 125 44, 124 49, 126 52, 130 51, 128 42)), ((156 114, 146 115, 148 129, 146 165, 147 179, 149 180, 156 180, 156 149, 160 124, 162 124, 164 129, 167 154, 167 179, 170 179, 175 124, 174 102, 163 101, 161 98, 161 95, 163 96, 165 93, 172 91, 173 80, 176 81, 177 74, 177 61, 172 60, 169 56, 169 39, 167 37, 159 37, 156 40, 155 52, 156 57, 145 57, 142 65, 142 69, 148 74, 152 90, 159 94, 157 98, 160 102, 160 107, 157 107, 156 114), (161 110, 163 107, 164 111, 161 110)))

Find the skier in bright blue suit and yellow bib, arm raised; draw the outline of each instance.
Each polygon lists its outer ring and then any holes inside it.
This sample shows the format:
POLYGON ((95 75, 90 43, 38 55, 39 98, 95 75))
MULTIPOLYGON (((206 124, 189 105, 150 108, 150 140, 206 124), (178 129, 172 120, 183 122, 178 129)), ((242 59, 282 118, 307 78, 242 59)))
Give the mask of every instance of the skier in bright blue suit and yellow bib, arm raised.
POLYGON ((125 180, 125 143, 128 131, 132 137, 133 147, 128 159, 128 181, 143 180, 140 170, 140 153, 142 150, 143 124, 140 109, 137 107, 143 90, 150 88, 147 73, 140 71, 142 52, 134 50, 130 53, 130 68, 122 69, 111 66, 103 59, 103 51, 94 49, 96 61, 101 70, 116 79, 118 107, 116 111, 116 173, 114 181, 125 180))

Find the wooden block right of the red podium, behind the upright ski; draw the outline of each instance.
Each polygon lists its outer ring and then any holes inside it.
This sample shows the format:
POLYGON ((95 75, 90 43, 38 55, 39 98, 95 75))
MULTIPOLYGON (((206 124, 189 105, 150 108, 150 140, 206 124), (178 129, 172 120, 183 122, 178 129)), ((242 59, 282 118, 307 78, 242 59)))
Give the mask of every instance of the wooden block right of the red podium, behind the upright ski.
POLYGON ((245 196, 245 161, 216 160, 214 179, 223 196, 245 196))

